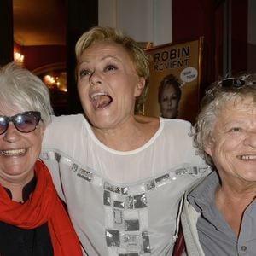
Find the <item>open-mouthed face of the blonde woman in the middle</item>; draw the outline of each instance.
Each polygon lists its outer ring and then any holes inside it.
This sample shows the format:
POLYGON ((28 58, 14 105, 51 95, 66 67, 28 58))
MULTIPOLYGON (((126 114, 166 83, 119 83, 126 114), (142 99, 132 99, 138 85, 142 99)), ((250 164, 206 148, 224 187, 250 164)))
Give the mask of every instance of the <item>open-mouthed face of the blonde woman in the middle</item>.
POLYGON ((84 50, 77 67, 79 97, 90 123, 113 129, 130 119, 145 79, 122 45, 99 42, 84 50))

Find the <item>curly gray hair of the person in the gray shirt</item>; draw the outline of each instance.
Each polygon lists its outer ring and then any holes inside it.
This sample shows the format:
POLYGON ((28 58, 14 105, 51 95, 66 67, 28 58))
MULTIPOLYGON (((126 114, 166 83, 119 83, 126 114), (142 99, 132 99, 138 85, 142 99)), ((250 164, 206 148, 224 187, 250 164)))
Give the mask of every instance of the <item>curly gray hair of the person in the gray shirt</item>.
POLYGON ((241 84, 230 84, 225 87, 225 80, 219 79, 213 83, 206 91, 201 101, 201 112, 198 114, 192 135, 194 144, 197 148, 197 154, 213 166, 212 157, 206 153, 205 148, 212 141, 212 131, 214 124, 218 119, 218 114, 224 110, 228 102, 241 102, 245 98, 251 98, 256 104, 256 76, 255 74, 246 74, 234 78, 234 81, 241 84))

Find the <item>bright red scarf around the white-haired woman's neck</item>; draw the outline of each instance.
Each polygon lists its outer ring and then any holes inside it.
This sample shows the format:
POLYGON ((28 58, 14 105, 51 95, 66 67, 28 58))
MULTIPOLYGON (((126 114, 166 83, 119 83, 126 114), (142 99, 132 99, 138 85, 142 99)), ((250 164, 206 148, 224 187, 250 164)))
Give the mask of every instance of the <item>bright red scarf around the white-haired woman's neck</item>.
POLYGON ((78 237, 55 191, 49 171, 39 160, 35 174, 36 188, 24 204, 12 201, 0 185, 0 221, 22 229, 34 229, 47 222, 55 256, 82 255, 78 237))

